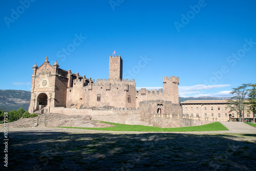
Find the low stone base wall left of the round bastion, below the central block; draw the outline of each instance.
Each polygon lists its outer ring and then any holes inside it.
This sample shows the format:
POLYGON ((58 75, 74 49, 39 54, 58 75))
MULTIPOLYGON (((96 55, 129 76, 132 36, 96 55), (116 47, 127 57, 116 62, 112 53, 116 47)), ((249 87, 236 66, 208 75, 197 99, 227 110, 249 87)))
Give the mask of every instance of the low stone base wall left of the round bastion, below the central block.
POLYGON ((134 109, 110 109, 110 110, 92 110, 92 109, 75 109, 75 108, 54 108, 52 113, 64 115, 91 115, 92 120, 100 120, 105 122, 114 122, 122 124, 139 124, 148 125, 148 122, 142 121, 139 110, 134 109))

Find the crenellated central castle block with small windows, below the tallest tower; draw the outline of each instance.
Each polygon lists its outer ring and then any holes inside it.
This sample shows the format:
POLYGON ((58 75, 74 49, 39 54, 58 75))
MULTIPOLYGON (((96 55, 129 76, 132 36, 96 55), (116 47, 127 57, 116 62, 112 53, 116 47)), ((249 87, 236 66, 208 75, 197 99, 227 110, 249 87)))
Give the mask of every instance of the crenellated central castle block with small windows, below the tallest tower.
POLYGON ((83 79, 78 79, 74 80, 73 87, 67 90, 67 106, 82 104, 86 108, 93 106, 135 108, 135 94, 134 80, 97 80, 96 83, 86 85, 83 79))

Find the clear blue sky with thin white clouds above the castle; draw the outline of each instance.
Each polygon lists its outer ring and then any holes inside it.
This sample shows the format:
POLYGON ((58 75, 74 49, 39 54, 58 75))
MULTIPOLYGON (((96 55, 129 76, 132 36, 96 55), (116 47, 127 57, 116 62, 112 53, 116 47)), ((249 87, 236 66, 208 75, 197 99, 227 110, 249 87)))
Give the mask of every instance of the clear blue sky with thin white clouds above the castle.
POLYGON ((1 1, 0 89, 30 91, 45 57, 87 78, 108 78, 109 56, 123 78, 162 87, 179 76, 180 96, 230 97, 255 83, 256 1, 1 1))

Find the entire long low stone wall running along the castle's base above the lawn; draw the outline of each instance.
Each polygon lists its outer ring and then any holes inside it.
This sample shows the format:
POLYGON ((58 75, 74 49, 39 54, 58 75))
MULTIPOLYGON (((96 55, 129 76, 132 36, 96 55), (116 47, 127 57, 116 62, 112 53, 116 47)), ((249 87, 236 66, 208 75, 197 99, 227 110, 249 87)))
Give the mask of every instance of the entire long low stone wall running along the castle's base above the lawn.
MULTIPOLYGON (((54 108, 52 113, 65 115, 83 115, 92 116, 92 120, 101 120, 121 124, 139 124, 156 127, 183 127, 197 126, 212 123, 214 121, 205 121, 198 119, 187 119, 178 117, 156 117, 150 113, 143 113, 140 110, 129 108, 109 108, 109 109, 76 109, 76 108, 54 108)), ((160 115, 159 115, 160 116, 160 115)), ((175 116, 175 115, 173 115, 175 116)))

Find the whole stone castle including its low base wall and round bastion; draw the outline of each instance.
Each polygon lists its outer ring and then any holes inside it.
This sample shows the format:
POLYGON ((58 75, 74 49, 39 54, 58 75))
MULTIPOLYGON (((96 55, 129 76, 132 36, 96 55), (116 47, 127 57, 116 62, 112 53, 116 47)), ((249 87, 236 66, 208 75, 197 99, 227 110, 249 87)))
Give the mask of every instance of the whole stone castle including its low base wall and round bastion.
POLYGON ((30 113, 90 115, 94 120, 159 127, 191 125, 189 119, 179 119, 179 77, 163 77, 160 90, 136 90, 134 79, 122 78, 120 55, 109 58, 109 78, 96 81, 60 69, 57 61, 50 65, 48 57, 32 69, 30 113))

